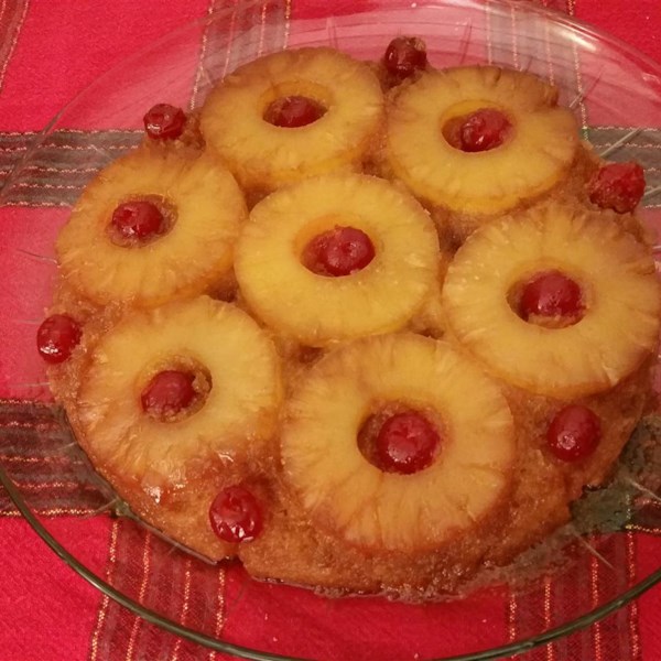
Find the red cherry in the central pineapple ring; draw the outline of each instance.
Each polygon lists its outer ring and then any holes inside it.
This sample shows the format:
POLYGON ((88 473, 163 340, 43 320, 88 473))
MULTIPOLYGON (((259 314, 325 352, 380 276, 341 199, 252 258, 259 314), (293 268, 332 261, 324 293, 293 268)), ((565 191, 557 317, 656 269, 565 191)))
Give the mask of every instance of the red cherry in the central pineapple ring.
POLYGON ((303 250, 303 264, 317 275, 350 275, 375 258, 371 239, 355 227, 335 227, 314 237, 303 250))

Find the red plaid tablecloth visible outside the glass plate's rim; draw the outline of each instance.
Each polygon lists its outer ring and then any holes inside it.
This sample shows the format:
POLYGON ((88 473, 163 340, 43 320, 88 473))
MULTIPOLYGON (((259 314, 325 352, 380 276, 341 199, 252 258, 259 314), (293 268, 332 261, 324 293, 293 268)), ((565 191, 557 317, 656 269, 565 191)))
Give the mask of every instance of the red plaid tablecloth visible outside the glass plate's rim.
MULTIPOLYGON (((521 0, 525 1, 525 0, 521 0)), ((291 0, 294 15, 369 4, 368 0, 329 3, 291 0)), ((0 2, 0 182, 10 161, 25 149, 24 138, 37 131, 78 90, 126 54, 149 44, 187 19, 202 17, 235 0, 3 0, 0 2)), ((540 0, 603 28, 661 61, 659 0, 540 0)), ((17 210, 18 209, 18 210, 17 210)), ((15 223, 2 223, 20 207, 0 209, 0 246, 10 245, 15 223)), ((45 240, 45 239, 44 239, 45 240)), ((2 252, 3 303, 13 295, 21 273, 2 252), (8 293, 9 292, 9 293, 8 293)), ((18 290, 17 290, 18 291, 18 290)), ((11 310, 3 310, 11 316, 11 310)), ((11 347, 3 343, 0 375, 11 370, 11 347), (9 367, 8 367, 9 366, 9 367)), ((1 387, 1 382, 0 382, 1 387)), ((0 392, 0 398, 6 393, 0 392)), ((53 509, 55 529, 71 523, 66 507, 53 509), (64 516, 63 516, 64 514, 64 516)), ((96 523, 91 523, 95 525, 96 523)), ((115 528, 99 522, 96 535, 78 539, 80 553, 102 564, 115 528), (100 560, 99 560, 100 559, 100 560)), ((76 549, 74 549, 76 550, 76 549)), ((140 549, 136 553, 141 553, 140 549)), ((24 521, 0 489, 0 661, 67 659, 220 659, 208 650, 182 643, 151 625, 108 604, 64 565, 24 521), (131 642, 140 628, 140 652, 131 642)), ((658 560, 657 560, 658 563, 658 560)), ((628 630, 606 648, 593 628, 573 647, 549 646, 521 657, 548 661, 657 661, 661 590, 646 594, 627 611, 628 630), (614 647, 615 646, 615 647, 614 647)), ((516 616, 514 616, 516 617, 516 616)), ((512 622, 510 622, 511 625, 512 622)), ((516 619, 513 625, 516 626, 516 619)), ((608 629, 608 624, 602 625, 608 629)), ((459 631, 460 636, 462 632, 459 631)))

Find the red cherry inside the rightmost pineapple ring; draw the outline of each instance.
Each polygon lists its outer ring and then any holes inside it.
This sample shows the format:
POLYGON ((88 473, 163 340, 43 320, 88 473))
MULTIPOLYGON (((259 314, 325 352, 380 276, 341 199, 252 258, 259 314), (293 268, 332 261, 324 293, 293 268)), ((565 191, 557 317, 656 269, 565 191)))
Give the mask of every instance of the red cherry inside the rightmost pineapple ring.
POLYGON ((519 316, 559 317, 577 322, 585 310, 581 286, 560 271, 546 271, 530 280, 521 292, 519 316))

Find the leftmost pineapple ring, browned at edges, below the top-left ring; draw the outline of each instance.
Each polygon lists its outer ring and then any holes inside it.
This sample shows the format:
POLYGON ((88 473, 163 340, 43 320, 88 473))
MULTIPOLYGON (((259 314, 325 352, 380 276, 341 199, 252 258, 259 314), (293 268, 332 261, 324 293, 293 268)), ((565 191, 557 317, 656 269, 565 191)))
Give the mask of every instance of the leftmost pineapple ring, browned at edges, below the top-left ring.
POLYGON ((246 216, 241 191, 212 155, 192 160, 138 150, 106 167, 76 203, 57 237, 62 275, 99 305, 152 307, 196 295, 231 271, 246 216), (170 231, 139 248, 113 243, 107 226, 115 208, 145 196, 175 208, 170 231))

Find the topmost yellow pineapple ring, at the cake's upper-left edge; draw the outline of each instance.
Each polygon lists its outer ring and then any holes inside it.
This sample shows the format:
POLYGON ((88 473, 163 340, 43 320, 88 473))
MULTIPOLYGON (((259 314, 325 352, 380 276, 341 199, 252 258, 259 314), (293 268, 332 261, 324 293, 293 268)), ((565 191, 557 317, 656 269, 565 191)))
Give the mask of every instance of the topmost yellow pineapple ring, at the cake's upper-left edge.
POLYGON ((201 129, 246 187, 277 188, 305 176, 358 170, 381 126, 383 95, 370 67, 330 48, 268 55, 225 78, 207 98, 201 129), (269 105, 304 96, 326 112, 295 129, 263 119, 269 105))

